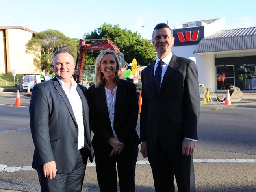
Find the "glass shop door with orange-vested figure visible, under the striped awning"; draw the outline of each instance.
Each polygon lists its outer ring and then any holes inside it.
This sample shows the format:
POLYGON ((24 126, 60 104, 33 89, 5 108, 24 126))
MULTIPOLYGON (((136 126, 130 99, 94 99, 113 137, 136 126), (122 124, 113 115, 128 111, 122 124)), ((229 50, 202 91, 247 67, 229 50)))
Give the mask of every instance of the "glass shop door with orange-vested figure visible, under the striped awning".
POLYGON ((216 66, 217 90, 225 91, 230 86, 235 85, 234 81, 234 65, 216 66))

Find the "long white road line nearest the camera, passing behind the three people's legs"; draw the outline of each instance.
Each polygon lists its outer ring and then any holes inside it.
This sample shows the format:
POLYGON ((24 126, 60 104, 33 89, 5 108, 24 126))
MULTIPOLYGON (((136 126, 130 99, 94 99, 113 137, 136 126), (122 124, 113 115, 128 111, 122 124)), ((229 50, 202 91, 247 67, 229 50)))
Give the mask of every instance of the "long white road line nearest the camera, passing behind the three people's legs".
MULTIPOLYGON (((194 159, 194 162, 204 162, 204 163, 256 163, 256 159, 194 159)), ((148 161, 140 160, 136 164, 149 164, 148 161)), ((95 162, 87 163, 87 167, 94 167, 95 162)), ((0 164, 0 172, 15 172, 24 170, 34 170, 32 166, 24 167, 8 167, 7 165, 0 164)))

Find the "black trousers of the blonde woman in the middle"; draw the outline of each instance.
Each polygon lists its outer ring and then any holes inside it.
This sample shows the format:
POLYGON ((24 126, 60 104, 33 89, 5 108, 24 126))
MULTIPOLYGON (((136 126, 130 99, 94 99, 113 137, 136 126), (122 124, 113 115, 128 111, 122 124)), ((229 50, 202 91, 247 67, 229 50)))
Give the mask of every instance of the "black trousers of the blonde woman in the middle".
POLYGON ((94 146, 98 184, 101 192, 117 192, 117 171, 120 192, 135 192, 135 167, 138 146, 124 147, 119 155, 109 157, 112 147, 94 146), (116 171, 117 164, 117 171, 116 171))

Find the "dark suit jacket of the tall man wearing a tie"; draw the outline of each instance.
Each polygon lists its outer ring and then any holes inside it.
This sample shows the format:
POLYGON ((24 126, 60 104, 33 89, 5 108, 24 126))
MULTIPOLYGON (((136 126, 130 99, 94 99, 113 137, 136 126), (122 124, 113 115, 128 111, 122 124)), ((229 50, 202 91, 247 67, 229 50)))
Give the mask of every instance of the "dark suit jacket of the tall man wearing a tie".
POLYGON ((184 137, 197 139, 200 113, 198 71, 195 62, 173 54, 160 92, 154 85, 154 61, 141 73, 140 140, 150 151, 157 140, 164 151, 180 151, 184 137))

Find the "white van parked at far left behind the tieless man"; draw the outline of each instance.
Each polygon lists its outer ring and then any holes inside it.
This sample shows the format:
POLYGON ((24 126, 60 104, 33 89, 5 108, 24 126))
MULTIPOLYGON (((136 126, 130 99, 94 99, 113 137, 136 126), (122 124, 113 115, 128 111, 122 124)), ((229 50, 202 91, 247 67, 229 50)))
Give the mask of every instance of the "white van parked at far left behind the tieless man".
MULTIPOLYGON (((45 81, 48 81, 49 79, 52 79, 52 76, 45 76, 45 81)), ((28 90, 28 85, 30 86, 30 90, 32 90, 33 87, 38 83, 41 83, 40 75, 23 74, 22 87, 25 92, 28 90)))

